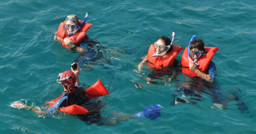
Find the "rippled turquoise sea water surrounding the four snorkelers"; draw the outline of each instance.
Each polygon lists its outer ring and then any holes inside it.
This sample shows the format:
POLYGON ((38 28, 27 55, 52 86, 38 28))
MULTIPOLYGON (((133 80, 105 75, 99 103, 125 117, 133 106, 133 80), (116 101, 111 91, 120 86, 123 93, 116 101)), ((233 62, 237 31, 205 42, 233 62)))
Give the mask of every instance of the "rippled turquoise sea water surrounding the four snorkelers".
MULTIPOLYGON (((256 133, 256 2, 254 0, 2 0, 0 3, 0 119, 1 134, 13 133, 256 133), (102 117, 111 113, 133 114, 146 106, 160 104, 161 117, 129 119, 116 126, 88 126, 75 116, 56 114, 39 118, 26 109, 10 106, 15 101, 44 109, 44 103, 58 97, 63 87, 56 82, 58 73, 70 70, 79 56, 61 47, 53 39, 60 22, 76 14, 92 27, 87 32, 107 46, 104 57, 111 64, 91 66, 81 71, 80 84, 92 85, 101 79, 110 94, 102 98, 102 117), (253 15, 254 14, 254 15, 253 15), (213 106, 212 99, 202 94, 196 104, 169 105, 177 88, 187 82, 147 84, 144 79, 151 70, 136 73, 141 57, 160 36, 171 37, 185 48, 192 35, 204 39, 206 46, 220 47, 213 61, 223 93, 239 88, 240 100, 249 108, 243 114, 236 101, 226 110, 213 106), (119 54, 122 49, 134 54, 119 54), (107 72, 108 71, 108 72, 107 72), (143 84, 137 89, 131 81, 143 84), (214 107, 215 109, 212 109, 214 107)), ((181 59, 181 51, 177 59, 181 59)))

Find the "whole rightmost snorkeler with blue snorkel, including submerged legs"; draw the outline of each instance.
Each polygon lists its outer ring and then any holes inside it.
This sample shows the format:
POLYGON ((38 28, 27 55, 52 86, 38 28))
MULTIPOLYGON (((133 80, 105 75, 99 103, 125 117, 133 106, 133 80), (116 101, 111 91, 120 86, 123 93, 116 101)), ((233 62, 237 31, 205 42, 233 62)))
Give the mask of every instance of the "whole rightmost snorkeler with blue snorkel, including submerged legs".
POLYGON ((212 57, 218 49, 218 47, 205 47, 203 40, 195 39, 195 36, 192 36, 189 47, 185 48, 181 58, 182 73, 185 73, 191 79, 188 83, 183 83, 183 88, 180 90, 182 96, 185 98, 189 96, 189 99, 176 96, 175 104, 195 103, 194 100, 201 100, 200 94, 205 93, 211 96, 213 105, 219 109, 227 109, 227 103, 236 100, 242 113, 248 110, 244 101, 240 100, 238 95, 224 93, 215 81, 217 72, 212 57))

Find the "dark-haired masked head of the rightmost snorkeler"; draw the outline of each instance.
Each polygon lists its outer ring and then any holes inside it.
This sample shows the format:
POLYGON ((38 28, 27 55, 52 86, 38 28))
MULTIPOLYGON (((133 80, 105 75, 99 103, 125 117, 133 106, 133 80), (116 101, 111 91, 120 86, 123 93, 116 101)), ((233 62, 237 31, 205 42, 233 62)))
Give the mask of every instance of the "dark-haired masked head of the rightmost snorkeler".
POLYGON ((191 56, 195 61, 202 56, 204 51, 204 42, 202 39, 194 39, 190 43, 189 56, 191 56))

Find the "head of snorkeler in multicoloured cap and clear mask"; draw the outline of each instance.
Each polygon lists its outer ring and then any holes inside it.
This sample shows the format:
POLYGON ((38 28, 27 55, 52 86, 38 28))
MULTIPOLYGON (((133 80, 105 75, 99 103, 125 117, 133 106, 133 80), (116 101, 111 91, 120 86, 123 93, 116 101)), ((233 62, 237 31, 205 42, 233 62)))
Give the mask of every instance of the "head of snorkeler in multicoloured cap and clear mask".
POLYGON ((74 14, 70 14, 66 18, 66 23, 64 28, 67 30, 67 33, 70 34, 79 27, 78 17, 74 14))

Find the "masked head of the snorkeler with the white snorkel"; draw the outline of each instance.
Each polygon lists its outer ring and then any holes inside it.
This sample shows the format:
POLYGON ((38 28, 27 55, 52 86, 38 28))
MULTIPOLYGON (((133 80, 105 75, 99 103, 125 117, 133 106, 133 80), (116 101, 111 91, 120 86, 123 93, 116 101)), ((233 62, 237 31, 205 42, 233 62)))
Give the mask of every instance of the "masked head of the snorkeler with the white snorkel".
POLYGON ((157 39, 156 42, 154 42, 153 46, 156 49, 157 53, 160 54, 160 53, 163 53, 167 49, 167 46, 170 44, 171 44, 171 39, 169 37, 162 36, 159 39, 157 39))

